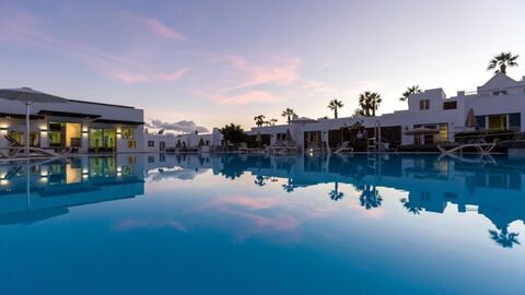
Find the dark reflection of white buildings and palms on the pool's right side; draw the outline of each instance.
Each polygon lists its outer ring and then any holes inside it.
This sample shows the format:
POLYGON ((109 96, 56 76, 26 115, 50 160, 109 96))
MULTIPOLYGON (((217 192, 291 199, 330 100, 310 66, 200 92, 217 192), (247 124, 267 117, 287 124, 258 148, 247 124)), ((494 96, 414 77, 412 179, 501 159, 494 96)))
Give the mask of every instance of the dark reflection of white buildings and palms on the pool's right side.
MULTIPOLYGON (((188 157, 195 157, 187 161, 192 163, 191 168, 200 163, 197 156, 188 157)), ((285 191, 334 182, 336 196, 337 184, 349 184, 361 192, 360 201, 365 208, 381 205, 376 187, 405 190, 408 198, 400 205, 409 212, 443 213, 453 203, 459 212, 477 210, 503 233, 511 222, 525 220, 525 163, 518 160, 498 158, 498 165, 480 165, 428 155, 381 155, 373 162, 364 155, 211 155, 200 161, 214 174, 230 179, 248 172, 256 176, 258 186, 267 179, 284 178, 285 191)), ((179 163, 180 167, 189 168, 185 163, 179 163)))

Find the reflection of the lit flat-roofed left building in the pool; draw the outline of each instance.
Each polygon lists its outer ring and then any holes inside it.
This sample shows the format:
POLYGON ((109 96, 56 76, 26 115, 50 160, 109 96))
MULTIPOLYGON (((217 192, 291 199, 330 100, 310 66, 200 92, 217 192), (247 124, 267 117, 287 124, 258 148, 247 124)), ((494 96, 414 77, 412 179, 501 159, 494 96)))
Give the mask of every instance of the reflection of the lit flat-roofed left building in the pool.
POLYGON ((45 220, 68 213, 70 206, 144 193, 143 168, 130 158, 0 166, 0 224, 45 220))

